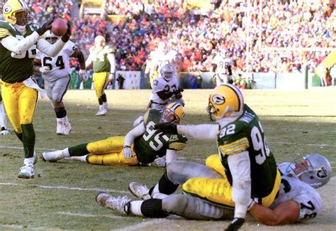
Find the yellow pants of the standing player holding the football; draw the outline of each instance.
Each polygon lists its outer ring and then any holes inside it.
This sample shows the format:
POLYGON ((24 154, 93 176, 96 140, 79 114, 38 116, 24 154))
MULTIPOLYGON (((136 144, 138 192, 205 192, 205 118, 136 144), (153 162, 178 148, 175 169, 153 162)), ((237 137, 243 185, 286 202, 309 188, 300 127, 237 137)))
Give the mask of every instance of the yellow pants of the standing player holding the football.
POLYGON ((38 90, 26 87, 23 82, 2 82, 2 100, 6 108, 7 117, 13 125, 16 133, 22 133, 21 124, 31 124, 36 104, 38 102, 38 90))

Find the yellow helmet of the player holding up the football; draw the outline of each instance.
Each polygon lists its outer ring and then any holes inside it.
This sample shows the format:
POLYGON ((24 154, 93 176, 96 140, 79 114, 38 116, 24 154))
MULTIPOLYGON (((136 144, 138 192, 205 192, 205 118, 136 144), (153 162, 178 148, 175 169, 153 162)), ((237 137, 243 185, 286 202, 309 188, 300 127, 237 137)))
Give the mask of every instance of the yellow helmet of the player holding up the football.
POLYGON ((27 4, 22 0, 9 0, 3 8, 2 14, 6 21, 13 25, 26 26, 32 21, 27 4))

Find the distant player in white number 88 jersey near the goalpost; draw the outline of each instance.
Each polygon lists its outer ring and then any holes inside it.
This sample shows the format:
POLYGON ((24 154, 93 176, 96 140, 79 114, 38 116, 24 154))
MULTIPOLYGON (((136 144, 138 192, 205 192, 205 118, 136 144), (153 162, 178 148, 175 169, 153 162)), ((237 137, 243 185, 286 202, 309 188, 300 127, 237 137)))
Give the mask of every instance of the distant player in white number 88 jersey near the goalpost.
POLYGON ((232 72, 233 60, 228 57, 228 50, 220 50, 219 55, 216 55, 212 61, 212 72, 215 72, 216 86, 223 85, 225 83, 233 83, 232 72))

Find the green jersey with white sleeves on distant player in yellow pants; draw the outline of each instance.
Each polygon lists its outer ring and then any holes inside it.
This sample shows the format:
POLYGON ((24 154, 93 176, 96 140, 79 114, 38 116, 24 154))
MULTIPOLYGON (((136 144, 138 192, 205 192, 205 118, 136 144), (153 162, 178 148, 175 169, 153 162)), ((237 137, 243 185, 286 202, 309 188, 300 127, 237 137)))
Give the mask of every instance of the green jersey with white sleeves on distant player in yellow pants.
POLYGON ((108 45, 101 47, 93 46, 90 48, 92 63, 94 63, 94 72, 110 72, 111 66, 107 55, 114 53, 113 48, 108 45))

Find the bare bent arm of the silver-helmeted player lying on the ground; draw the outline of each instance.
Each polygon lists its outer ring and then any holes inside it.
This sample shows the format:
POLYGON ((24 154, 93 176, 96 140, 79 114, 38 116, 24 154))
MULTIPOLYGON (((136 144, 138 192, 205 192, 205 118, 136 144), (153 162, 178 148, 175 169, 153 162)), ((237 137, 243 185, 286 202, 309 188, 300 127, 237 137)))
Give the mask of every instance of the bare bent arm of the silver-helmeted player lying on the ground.
POLYGON ((254 204, 250 208, 250 213, 264 225, 287 225, 298 220, 300 205, 294 200, 287 200, 271 210, 262 205, 254 204))

